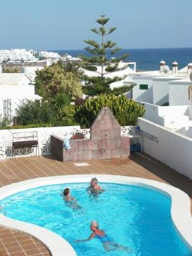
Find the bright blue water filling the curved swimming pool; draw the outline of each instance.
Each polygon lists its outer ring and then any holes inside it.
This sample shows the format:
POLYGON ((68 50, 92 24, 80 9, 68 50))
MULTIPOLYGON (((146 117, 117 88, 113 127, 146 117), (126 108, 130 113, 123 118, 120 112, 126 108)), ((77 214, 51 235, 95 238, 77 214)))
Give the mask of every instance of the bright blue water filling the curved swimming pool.
POLYGON ((101 184, 106 189, 97 198, 86 193, 88 184, 61 184, 22 191, 1 200, 6 216, 52 230, 72 244, 78 256, 191 256, 175 231, 170 216, 170 198, 146 188, 101 184), (68 207, 60 195, 70 188, 82 209, 68 207), (90 222, 132 252, 105 252, 101 241, 90 236, 90 222))

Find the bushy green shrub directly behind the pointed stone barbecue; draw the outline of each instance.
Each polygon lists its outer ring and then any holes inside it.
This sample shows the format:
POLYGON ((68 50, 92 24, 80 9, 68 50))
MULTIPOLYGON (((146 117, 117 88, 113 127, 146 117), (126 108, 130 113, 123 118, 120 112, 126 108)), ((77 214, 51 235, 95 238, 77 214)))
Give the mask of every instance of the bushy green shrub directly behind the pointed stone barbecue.
POLYGON ((99 95, 76 106, 75 120, 81 127, 90 127, 102 107, 109 107, 118 123, 122 126, 136 125, 137 118, 142 117, 145 108, 138 102, 129 100, 125 95, 99 95))

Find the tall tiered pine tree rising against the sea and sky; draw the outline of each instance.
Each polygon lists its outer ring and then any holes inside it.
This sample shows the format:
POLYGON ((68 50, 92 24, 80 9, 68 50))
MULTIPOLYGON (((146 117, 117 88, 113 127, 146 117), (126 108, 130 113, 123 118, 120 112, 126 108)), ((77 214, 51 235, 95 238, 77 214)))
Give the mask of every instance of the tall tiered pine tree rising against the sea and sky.
MULTIPOLYGON (((113 58, 116 52, 120 51, 121 48, 116 45, 116 43, 111 40, 106 40, 106 36, 110 35, 115 31, 116 28, 106 29, 105 25, 108 23, 109 18, 105 15, 100 15, 96 22, 99 24, 99 28, 93 28, 91 31, 101 37, 100 44, 95 40, 84 40, 88 45, 84 49, 92 56, 81 55, 80 58, 83 60, 83 68, 89 71, 94 71, 98 76, 86 76, 83 79, 85 81, 85 86, 83 86, 83 91, 87 95, 99 95, 100 93, 111 92, 109 84, 121 81, 124 77, 114 76, 113 78, 106 76, 109 73, 124 70, 127 65, 120 67, 120 61, 125 60, 129 54, 123 54, 118 58, 113 58)), ((122 86, 122 92, 128 92, 131 90, 132 86, 122 86)), ((121 91, 118 88, 118 91, 121 91)), ((113 92, 113 91, 112 91, 113 92)), ((114 91, 115 92, 115 91, 114 91)))

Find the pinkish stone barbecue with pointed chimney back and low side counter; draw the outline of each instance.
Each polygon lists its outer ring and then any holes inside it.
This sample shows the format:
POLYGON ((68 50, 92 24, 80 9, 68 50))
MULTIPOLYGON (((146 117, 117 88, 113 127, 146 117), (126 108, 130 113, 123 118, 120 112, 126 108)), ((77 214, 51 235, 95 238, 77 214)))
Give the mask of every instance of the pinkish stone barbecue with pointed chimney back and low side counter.
POLYGON ((129 137, 121 136, 121 127, 109 108, 102 108, 91 127, 90 140, 70 140, 63 148, 63 138, 51 135, 51 153, 61 161, 128 158, 129 137))

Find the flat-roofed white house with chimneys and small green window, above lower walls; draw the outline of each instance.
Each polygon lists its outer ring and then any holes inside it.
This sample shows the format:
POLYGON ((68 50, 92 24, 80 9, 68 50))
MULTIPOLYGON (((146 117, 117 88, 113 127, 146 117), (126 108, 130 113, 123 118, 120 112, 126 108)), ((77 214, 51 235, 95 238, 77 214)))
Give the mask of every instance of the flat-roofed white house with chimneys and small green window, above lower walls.
POLYGON ((191 72, 191 63, 178 70, 177 62, 173 62, 173 69, 167 73, 163 72, 162 65, 157 72, 137 72, 129 76, 129 81, 136 83, 132 99, 158 106, 188 105, 191 100, 188 92, 191 72))

